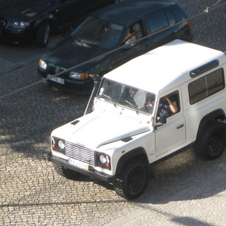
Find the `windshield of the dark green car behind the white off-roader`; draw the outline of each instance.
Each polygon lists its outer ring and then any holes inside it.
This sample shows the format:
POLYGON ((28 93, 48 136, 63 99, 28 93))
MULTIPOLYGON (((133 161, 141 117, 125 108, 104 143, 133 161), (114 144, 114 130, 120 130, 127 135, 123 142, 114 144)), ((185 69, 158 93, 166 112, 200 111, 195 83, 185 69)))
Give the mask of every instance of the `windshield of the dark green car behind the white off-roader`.
POLYGON ((80 43, 113 49, 117 47, 123 26, 90 16, 71 36, 80 43))

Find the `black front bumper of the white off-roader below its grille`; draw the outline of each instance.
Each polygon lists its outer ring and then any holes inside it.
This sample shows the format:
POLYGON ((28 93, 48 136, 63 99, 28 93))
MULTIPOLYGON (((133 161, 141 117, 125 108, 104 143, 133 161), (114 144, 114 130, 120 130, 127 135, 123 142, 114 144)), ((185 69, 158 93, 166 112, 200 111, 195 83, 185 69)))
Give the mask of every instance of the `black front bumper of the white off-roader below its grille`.
POLYGON ((114 183, 115 182, 115 176, 100 173, 100 172, 98 172, 94 169, 93 170, 80 169, 78 167, 70 165, 65 159, 61 159, 59 157, 53 156, 51 153, 48 154, 48 160, 54 162, 57 165, 63 166, 67 169, 71 169, 75 172, 87 175, 87 176, 92 177, 92 178, 96 178, 96 179, 101 180, 101 181, 106 181, 108 183, 114 183))

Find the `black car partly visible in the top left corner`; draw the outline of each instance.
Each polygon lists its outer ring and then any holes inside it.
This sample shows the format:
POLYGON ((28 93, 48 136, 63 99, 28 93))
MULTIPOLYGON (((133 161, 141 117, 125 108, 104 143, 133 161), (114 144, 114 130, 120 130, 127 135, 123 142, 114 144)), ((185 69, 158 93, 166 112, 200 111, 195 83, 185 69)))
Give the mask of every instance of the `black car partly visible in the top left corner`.
POLYGON ((50 33, 78 25, 90 13, 116 0, 0 0, 0 40, 48 44, 50 33))

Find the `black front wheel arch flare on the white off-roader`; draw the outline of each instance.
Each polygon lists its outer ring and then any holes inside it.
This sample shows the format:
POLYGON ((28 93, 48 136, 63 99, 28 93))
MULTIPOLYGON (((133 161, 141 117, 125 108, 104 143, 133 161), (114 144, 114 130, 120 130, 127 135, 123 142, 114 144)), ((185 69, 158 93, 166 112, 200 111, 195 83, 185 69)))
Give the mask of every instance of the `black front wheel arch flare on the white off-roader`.
POLYGON ((125 163, 127 161, 131 160, 132 158, 142 159, 143 161, 145 161, 148 164, 148 157, 147 157, 147 153, 146 153, 145 149, 143 147, 137 147, 137 148, 127 152, 119 159, 115 175, 120 174, 125 163))

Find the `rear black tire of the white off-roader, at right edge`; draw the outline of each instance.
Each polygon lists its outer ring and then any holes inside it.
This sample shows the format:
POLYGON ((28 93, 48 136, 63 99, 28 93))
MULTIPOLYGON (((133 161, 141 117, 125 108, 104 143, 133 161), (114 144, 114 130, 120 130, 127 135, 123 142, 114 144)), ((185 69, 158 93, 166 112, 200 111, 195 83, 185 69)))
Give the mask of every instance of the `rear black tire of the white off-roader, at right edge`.
POLYGON ((214 160, 224 151, 226 145, 226 126, 219 121, 209 122, 194 146, 195 154, 205 160, 214 160))

